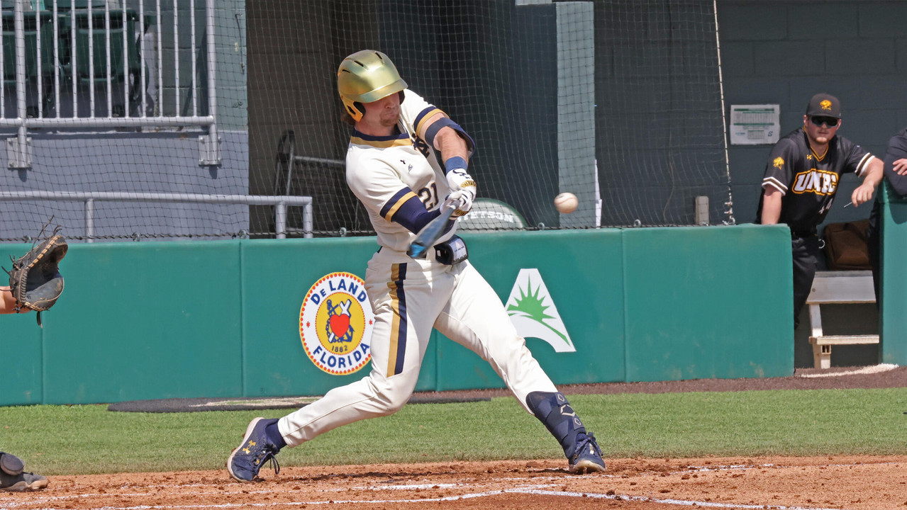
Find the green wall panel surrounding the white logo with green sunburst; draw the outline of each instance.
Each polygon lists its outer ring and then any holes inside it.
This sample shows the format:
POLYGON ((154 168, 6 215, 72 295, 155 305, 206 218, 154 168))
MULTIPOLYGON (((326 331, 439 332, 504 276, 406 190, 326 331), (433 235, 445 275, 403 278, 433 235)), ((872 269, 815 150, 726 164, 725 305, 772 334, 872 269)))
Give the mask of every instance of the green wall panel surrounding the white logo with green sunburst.
MULTIPOLYGON (((623 276, 620 231, 464 234, 470 261, 506 303, 521 268, 536 268, 551 293, 576 352, 555 352, 526 339, 557 384, 624 379, 623 276)), ((438 334, 438 390, 502 388, 503 381, 473 352, 438 334)))

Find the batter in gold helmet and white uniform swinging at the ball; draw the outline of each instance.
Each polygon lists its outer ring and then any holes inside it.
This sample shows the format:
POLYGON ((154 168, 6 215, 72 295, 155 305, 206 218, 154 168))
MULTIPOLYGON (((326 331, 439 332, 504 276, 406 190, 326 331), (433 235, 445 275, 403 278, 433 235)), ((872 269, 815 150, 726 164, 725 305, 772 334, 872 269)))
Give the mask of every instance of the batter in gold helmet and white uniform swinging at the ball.
POLYGON ((491 363, 523 408, 561 443, 571 472, 603 471, 595 438, 532 357, 455 235, 456 217, 467 214, 475 198, 476 184, 467 172, 472 138, 407 90, 384 53, 346 57, 337 89, 354 125, 346 182, 368 210, 380 245, 366 269, 375 311, 372 370, 281 419, 253 419, 229 456, 230 476, 251 481, 268 461, 279 472, 274 456, 281 447, 403 408, 433 328, 491 363), (454 209, 453 219, 434 249, 424 258, 406 255, 416 233, 446 208, 454 209))

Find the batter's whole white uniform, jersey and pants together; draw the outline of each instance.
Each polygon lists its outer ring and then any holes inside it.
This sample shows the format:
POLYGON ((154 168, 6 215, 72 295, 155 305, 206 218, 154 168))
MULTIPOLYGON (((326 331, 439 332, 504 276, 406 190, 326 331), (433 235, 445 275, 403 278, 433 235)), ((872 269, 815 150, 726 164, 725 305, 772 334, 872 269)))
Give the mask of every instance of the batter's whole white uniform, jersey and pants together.
MULTIPOLYGON (((528 412, 532 412, 526 403, 529 393, 557 391, 482 274, 468 260, 441 264, 434 259, 433 249, 426 258, 409 257, 406 249, 415 235, 391 221, 413 196, 431 210, 449 193, 434 149, 415 135, 417 125, 437 111, 407 90, 399 134, 353 133, 346 155, 346 182, 366 205, 382 246, 366 269, 366 291, 375 312, 372 370, 368 377, 330 390, 324 398, 280 419, 280 434, 290 447, 347 423, 402 408, 415 389, 433 329, 491 363, 528 412)), ((453 230, 445 237, 452 235, 453 230)))

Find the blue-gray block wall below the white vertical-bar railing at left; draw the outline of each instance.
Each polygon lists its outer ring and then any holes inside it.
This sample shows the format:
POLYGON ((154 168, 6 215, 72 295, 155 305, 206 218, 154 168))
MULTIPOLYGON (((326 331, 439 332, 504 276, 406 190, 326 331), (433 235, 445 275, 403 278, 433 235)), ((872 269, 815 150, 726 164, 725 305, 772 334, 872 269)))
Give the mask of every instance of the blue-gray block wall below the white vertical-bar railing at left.
MULTIPOLYGON (((86 133, 58 136, 34 133, 34 166, 0 172, 6 192, 133 192, 246 195, 249 187, 248 136, 245 131, 220 131, 223 163, 200 167, 195 137, 181 133, 86 133)), ((0 165, 6 167, 5 152, 0 165)), ((63 235, 75 240, 85 234, 85 205, 80 201, 2 201, 0 238, 35 236, 51 217, 63 235)), ((107 241, 168 240, 166 236, 229 238, 249 228, 249 207, 231 204, 108 201, 94 202, 94 236, 107 241), (165 237, 155 237, 165 236, 165 237)), ((185 238, 185 237, 183 237, 185 238)))

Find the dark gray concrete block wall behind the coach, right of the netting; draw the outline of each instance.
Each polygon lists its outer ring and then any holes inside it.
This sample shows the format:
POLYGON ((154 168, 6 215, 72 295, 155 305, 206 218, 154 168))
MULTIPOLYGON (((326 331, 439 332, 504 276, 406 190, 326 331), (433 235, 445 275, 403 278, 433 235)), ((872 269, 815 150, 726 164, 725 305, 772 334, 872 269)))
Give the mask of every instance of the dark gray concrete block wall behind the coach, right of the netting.
MULTIPOLYGON (((884 157, 907 125, 907 2, 724 0, 717 9, 727 113, 732 104, 779 104, 784 136, 825 91, 842 101, 839 134, 884 157)), ((737 223, 756 218, 770 150, 728 148, 737 223)), ((869 216, 870 207, 844 208, 859 183, 844 178, 826 223, 869 216)))

